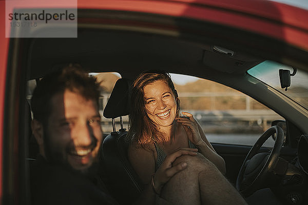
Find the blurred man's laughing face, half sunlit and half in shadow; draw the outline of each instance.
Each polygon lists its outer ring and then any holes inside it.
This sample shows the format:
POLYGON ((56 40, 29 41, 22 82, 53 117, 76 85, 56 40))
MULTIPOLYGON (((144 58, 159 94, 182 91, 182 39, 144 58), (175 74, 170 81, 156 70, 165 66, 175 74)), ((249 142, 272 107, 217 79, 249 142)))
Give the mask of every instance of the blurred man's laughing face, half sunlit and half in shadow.
MULTIPOLYGON (((97 161, 102 142, 100 115, 93 100, 66 89, 51 99, 53 107, 45 135, 33 120, 33 130, 40 144, 45 143, 43 156, 49 161, 62 162, 74 170, 86 173, 97 161), (56 106, 59 105, 59 106, 56 106), (45 139, 42 136, 46 136, 45 139)), ((44 131, 44 130, 43 130, 44 131)), ((41 146, 42 147, 42 146, 41 146)))

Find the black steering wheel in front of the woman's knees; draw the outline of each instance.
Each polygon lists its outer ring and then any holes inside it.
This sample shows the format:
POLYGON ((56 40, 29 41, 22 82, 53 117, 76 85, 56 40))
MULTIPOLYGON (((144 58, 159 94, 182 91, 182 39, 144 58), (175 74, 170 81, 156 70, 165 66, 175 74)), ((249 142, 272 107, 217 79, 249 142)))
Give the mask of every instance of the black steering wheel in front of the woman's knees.
POLYGON ((266 177, 275 168, 283 145, 283 130, 278 126, 268 128, 247 154, 236 180, 236 189, 245 197, 262 187, 266 177), (268 137, 276 133, 274 147, 270 153, 258 153, 268 137))

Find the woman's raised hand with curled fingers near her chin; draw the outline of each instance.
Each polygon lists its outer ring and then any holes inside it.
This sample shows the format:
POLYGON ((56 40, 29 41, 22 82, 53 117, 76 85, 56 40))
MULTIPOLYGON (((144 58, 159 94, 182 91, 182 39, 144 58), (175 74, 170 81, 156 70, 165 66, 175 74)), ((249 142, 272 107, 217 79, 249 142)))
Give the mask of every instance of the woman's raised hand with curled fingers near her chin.
POLYGON ((185 117, 178 117, 177 122, 180 122, 184 130, 188 136, 188 139, 196 146, 200 146, 204 143, 203 139, 201 138, 197 121, 195 120, 194 116, 188 112, 182 112, 183 115, 186 115, 188 118, 185 117))

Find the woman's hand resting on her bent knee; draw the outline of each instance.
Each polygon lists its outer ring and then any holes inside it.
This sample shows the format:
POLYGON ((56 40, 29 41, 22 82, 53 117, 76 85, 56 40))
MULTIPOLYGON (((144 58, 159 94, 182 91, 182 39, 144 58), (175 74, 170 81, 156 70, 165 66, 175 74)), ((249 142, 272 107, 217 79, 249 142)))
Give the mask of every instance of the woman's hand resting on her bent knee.
POLYGON ((153 176, 153 189, 160 194, 164 184, 176 173, 184 170, 187 167, 187 163, 179 163, 172 167, 172 163, 182 155, 196 156, 198 149, 192 148, 180 148, 176 152, 166 156, 164 162, 153 176))

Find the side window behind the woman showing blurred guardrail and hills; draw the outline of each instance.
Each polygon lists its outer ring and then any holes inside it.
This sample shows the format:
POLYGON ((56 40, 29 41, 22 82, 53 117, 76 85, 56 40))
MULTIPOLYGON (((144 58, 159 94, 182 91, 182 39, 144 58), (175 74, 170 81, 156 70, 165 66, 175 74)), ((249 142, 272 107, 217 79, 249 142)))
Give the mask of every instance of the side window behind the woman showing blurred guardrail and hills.
MULTIPOLYGON (((232 145, 254 145, 275 119, 283 119, 253 98, 214 81, 171 74, 181 100, 181 111, 194 114, 208 140, 232 145)), ((267 139, 264 147, 273 147, 267 139)))

